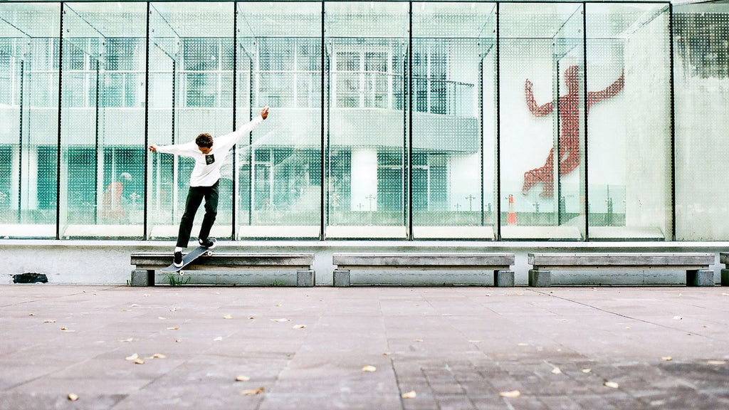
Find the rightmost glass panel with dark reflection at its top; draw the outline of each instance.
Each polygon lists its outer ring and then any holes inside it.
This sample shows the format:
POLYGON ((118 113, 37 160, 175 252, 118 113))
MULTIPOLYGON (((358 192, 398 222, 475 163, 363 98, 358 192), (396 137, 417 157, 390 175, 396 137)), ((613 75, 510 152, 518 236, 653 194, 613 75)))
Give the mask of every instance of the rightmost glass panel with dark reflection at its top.
POLYGON ((726 241, 729 2, 675 6, 673 27, 676 239, 726 241))

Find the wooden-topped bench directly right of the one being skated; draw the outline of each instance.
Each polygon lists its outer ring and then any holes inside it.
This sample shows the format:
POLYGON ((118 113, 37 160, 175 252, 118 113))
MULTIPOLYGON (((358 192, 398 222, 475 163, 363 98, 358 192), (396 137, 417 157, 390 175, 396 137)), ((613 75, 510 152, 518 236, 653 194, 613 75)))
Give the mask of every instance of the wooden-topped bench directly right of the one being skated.
POLYGON ((477 270, 494 271, 494 285, 514 286, 514 272, 510 270, 515 256, 512 253, 335 253, 332 263, 334 285, 350 285, 350 270, 477 270))

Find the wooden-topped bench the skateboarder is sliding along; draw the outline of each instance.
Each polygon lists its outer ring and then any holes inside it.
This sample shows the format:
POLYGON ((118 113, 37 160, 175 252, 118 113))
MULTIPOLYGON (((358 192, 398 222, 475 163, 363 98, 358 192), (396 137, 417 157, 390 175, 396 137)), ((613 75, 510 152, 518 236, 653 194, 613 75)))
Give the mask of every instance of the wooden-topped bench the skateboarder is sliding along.
MULTIPOLYGON (((184 271, 240 269, 297 269, 296 285, 314 285, 313 253, 218 253, 201 256, 185 266, 184 271)), ((139 252, 131 255, 132 286, 154 286, 155 271, 170 266, 171 253, 139 252)))

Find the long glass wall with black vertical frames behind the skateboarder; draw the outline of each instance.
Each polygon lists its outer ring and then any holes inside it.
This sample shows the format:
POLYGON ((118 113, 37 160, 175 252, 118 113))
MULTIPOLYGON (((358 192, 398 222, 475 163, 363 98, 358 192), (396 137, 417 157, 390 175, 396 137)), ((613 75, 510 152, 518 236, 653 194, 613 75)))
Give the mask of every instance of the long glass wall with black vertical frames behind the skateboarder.
POLYGON ((691 174, 674 155, 697 159, 674 122, 694 82, 674 90, 674 43, 682 63, 692 50, 673 16, 665 1, 4 2, 0 236, 172 239, 192 161, 146 147, 270 105, 222 169, 221 239, 727 239, 677 234, 697 205, 677 197, 691 174))

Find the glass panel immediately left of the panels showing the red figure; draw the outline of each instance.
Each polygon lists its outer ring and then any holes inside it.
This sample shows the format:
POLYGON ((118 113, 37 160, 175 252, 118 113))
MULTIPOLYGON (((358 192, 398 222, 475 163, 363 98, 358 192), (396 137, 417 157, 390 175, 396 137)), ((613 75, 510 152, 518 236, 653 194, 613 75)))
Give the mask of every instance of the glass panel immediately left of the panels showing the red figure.
POLYGON ((416 239, 494 239, 482 204, 494 201, 495 12, 491 3, 413 3, 416 239))

